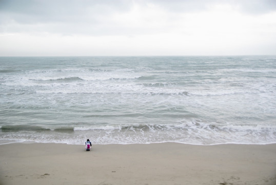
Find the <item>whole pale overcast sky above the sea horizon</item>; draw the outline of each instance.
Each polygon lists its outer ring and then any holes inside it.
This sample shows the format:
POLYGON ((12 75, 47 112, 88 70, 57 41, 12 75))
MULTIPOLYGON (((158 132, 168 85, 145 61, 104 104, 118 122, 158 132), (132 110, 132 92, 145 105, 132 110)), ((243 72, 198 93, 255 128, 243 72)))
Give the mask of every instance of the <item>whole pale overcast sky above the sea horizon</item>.
POLYGON ((275 55, 275 0, 0 0, 0 56, 275 55))

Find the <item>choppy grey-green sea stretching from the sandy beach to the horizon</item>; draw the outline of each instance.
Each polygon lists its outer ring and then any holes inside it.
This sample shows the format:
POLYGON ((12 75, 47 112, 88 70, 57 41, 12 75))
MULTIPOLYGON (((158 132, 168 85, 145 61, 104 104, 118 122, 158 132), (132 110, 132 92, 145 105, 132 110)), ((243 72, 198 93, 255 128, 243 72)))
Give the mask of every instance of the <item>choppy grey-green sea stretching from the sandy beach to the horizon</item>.
POLYGON ((276 56, 0 57, 0 140, 276 143, 276 56))

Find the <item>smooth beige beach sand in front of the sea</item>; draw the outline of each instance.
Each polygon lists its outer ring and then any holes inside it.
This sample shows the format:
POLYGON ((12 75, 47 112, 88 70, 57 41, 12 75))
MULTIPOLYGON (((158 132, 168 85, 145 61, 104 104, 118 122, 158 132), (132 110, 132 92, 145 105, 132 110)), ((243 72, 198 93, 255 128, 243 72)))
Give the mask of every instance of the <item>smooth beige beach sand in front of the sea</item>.
POLYGON ((276 144, 3 144, 0 173, 4 185, 276 185, 276 144))

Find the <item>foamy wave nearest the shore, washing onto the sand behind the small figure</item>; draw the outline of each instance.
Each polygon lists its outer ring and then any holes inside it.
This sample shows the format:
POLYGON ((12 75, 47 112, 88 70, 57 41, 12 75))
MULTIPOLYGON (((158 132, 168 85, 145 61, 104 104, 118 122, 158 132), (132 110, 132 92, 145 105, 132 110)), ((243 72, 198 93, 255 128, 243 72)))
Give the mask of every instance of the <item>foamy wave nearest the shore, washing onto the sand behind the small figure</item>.
POLYGON ((179 124, 65 126, 54 129, 15 125, 3 126, 1 130, 0 139, 2 140, 68 144, 83 144, 87 138, 93 144, 179 142, 210 145, 223 143, 266 144, 276 141, 276 126, 223 125, 201 121, 179 124))

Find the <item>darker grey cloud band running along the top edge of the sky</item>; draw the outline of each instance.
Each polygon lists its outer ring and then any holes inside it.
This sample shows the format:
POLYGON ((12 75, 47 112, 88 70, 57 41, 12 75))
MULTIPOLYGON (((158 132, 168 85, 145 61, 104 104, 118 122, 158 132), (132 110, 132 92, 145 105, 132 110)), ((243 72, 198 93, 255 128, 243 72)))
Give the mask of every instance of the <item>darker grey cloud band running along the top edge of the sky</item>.
POLYGON ((19 23, 74 22, 93 20, 100 16, 129 11, 134 4, 155 4, 168 11, 196 12, 210 5, 232 4, 245 13, 267 13, 276 10, 275 0, 140 0, 140 1, 88 1, 88 0, 1 0, 0 11, 19 23))

